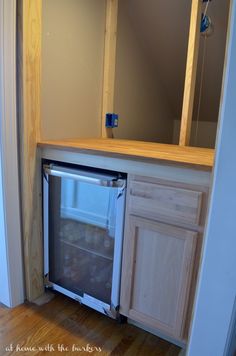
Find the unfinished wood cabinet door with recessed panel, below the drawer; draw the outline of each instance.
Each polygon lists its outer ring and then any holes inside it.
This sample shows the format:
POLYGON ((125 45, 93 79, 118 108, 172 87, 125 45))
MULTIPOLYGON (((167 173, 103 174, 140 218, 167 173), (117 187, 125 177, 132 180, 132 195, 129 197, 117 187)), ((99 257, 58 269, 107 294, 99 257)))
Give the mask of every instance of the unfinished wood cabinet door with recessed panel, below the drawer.
POLYGON ((124 241, 121 313, 181 339, 197 233, 130 215, 124 241))

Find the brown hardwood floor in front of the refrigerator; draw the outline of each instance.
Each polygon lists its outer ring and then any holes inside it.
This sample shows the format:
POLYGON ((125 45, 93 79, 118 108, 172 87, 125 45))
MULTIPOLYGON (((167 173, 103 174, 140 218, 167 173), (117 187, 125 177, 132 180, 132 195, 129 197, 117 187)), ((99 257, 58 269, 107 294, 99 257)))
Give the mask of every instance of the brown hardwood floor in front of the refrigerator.
POLYGON ((167 341, 118 324, 62 295, 43 306, 25 303, 7 309, 0 305, 0 356, 175 356, 179 352, 167 341))

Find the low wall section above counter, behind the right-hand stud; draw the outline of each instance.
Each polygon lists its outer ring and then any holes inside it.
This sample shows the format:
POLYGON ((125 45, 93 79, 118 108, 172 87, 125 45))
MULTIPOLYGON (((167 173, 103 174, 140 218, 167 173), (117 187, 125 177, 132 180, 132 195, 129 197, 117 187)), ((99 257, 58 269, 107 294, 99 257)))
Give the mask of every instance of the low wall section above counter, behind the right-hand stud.
MULTIPOLYGON (((192 122, 190 146, 215 148, 217 122, 196 121, 192 122)), ((173 141, 179 143, 180 120, 174 120, 173 141)))

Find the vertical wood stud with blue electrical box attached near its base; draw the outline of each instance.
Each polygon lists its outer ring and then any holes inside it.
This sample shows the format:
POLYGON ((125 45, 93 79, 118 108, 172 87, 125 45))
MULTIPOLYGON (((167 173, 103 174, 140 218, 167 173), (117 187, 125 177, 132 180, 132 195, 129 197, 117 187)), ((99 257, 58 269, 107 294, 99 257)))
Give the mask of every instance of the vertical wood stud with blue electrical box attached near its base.
POLYGON ((118 0, 107 0, 102 95, 102 138, 111 138, 112 129, 106 128, 106 113, 114 111, 118 0))

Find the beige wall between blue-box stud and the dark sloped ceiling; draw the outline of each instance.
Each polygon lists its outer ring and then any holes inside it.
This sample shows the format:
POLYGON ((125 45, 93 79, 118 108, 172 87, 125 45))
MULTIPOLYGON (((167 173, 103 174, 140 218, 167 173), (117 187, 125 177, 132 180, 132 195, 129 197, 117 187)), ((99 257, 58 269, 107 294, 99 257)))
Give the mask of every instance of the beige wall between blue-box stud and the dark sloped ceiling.
MULTIPOLYGON (((172 112, 149 51, 133 25, 129 2, 120 0, 114 110, 115 138, 171 142, 172 112)), ((142 36, 142 35, 141 35, 142 36)))

